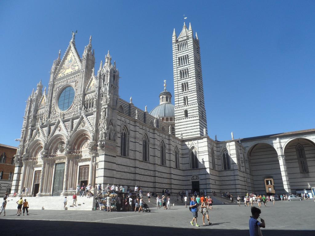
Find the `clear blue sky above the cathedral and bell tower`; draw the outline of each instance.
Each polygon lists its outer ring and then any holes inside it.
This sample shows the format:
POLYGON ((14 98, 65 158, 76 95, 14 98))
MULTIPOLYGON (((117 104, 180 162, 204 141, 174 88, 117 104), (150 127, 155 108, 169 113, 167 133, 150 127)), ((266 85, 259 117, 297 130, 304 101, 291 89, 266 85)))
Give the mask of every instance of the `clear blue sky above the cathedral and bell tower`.
POLYGON ((211 138, 314 128, 314 1, 152 2, 1 1, 0 143, 18 145, 25 101, 40 79, 48 86, 75 30, 80 55, 92 35, 96 68, 111 51, 120 97, 152 110, 164 79, 174 94, 171 39, 183 14, 200 40, 211 138))

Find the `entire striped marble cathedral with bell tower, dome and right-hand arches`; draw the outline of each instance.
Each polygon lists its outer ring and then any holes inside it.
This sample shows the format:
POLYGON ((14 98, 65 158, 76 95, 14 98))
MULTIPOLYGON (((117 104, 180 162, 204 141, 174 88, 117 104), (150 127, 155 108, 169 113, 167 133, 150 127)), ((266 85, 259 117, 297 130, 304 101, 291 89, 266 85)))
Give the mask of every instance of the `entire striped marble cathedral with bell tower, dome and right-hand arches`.
MULTIPOLYGON (((218 141, 207 132, 200 46, 184 24, 172 36, 174 98, 151 112, 119 98, 108 51, 94 68, 92 39, 80 57, 73 33, 26 102, 12 192, 59 196, 79 183, 242 194, 295 193, 315 185, 315 130, 218 141), (96 71, 97 70, 97 71, 96 71)), ((208 113, 208 114, 211 114, 208 113)))

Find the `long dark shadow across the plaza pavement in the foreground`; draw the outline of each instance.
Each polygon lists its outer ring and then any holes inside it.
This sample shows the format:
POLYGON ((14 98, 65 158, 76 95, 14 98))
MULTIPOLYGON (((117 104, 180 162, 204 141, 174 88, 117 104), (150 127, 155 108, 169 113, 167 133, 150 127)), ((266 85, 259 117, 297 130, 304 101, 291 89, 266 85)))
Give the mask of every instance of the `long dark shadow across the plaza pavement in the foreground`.
MULTIPOLYGON (((119 221, 119 220, 117 220, 119 221)), ((123 220, 122 220, 123 222, 123 220)), ((157 221, 158 222, 158 221, 157 221)), ((141 222, 140 222, 141 223, 141 222)), ((221 223, 216 223, 221 224, 221 223)), ((220 235, 220 236, 244 236, 249 235, 248 230, 238 229, 214 229, 212 225, 207 227, 171 228, 162 226, 145 226, 129 224, 112 224, 97 222, 73 222, 73 221, 45 221, 45 220, 3 220, 0 219, 1 235, 84 235, 90 233, 104 233, 111 236, 118 235, 220 235), (17 227, 18 226, 18 227, 17 227)), ((215 224, 213 224, 215 225, 215 224)), ((290 236, 303 235, 313 236, 315 231, 311 230, 262 230, 263 235, 268 236, 290 236)))

